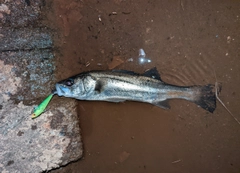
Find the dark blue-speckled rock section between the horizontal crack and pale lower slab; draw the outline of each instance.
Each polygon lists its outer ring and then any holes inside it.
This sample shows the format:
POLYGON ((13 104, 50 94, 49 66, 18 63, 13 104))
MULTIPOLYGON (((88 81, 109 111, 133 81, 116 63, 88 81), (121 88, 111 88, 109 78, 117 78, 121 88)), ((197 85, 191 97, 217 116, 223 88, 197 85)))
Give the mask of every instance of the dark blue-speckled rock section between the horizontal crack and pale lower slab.
POLYGON ((16 93, 10 91, 5 93, 11 99, 30 104, 51 92, 55 82, 54 55, 51 50, 7 51, 0 53, 0 60, 2 66, 12 64, 11 73, 21 78, 16 93))

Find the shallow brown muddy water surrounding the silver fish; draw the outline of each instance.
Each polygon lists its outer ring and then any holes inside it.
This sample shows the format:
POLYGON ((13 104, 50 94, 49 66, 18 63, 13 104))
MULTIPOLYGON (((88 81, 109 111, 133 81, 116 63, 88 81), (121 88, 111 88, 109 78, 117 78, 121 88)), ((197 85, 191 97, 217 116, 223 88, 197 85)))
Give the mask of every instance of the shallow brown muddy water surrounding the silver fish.
MULTIPOLYGON (((48 26, 60 35, 58 79, 112 65, 139 73, 156 66, 175 85, 217 78, 220 98, 240 119, 239 9, 234 0, 48 1, 48 26), (151 63, 138 63, 139 48, 151 63)), ((219 103, 213 114, 170 104, 79 101, 84 157, 53 172, 240 171, 240 125, 219 103)))

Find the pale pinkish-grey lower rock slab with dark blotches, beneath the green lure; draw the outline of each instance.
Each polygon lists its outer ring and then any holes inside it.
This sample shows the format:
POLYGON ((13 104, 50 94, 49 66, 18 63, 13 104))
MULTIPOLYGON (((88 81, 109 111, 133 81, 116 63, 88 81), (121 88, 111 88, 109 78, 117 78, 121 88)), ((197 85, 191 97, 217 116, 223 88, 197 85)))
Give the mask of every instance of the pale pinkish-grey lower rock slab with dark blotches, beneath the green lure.
POLYGON ((0 172, 41 172, 81 157, 75 105, 74 101, 58 99, 46 113, 32 120, 32 106, 3 103, 0 172))

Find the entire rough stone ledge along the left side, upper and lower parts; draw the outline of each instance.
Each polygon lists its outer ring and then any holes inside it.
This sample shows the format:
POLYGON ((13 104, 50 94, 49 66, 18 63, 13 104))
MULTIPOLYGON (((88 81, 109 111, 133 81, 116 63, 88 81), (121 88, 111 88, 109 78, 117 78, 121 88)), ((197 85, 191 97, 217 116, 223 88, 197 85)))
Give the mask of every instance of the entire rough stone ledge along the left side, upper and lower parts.
POLYGON ((42 0, 0 0, 0 172, 42 172, 82 157, 76 102, 55 96, 52 31, 39 24, 42 0), (34 104, 34 105, 33 105, 34 104))

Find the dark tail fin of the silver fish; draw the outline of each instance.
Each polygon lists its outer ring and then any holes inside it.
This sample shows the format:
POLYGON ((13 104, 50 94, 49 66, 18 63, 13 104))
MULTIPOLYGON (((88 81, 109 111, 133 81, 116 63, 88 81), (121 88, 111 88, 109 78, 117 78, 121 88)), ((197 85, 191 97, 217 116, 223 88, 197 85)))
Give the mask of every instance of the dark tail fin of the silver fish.
POLYGON ((201 108, 213 113, 216 109, 214 85, 197 86, 198 97, 193 102, 201 108))

